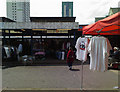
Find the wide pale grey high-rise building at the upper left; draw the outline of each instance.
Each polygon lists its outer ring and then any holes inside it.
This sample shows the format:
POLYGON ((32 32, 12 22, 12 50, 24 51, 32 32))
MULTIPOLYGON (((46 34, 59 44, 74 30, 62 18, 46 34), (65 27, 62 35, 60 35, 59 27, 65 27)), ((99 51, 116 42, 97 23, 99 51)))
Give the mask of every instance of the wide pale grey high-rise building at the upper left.
POLYGON ((29 22, 30 0, 7 0, 7 17, 16 22, 29 22))

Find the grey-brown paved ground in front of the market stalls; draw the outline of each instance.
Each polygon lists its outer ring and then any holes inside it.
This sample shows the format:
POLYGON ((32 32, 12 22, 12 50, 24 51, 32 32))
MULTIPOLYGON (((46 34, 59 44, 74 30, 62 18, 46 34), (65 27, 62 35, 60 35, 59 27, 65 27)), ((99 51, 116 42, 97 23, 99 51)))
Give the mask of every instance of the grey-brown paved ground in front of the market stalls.
MULTIPOLYGON (((80 89, 81 65, 78 61, 72 71, 68 70, 65 61, 45 62, 3 68, 3 89, 80 89)), ((83 74, 83 88, 86 90, 113 90, 118 86, 117 70, 93 72, 89 70, 89 64, 84 64, 83 74)))

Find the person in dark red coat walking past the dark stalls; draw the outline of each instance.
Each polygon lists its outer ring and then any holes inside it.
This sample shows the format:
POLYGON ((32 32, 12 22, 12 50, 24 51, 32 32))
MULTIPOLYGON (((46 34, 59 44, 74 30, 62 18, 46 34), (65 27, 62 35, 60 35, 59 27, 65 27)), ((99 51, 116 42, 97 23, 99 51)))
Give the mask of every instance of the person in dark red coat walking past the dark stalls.
POLYGON ((72 70, 73 61, 74 61, 74 52, 72 47, 70 47, 67 53, 67 64, 68 64, 69 70, 72 70))

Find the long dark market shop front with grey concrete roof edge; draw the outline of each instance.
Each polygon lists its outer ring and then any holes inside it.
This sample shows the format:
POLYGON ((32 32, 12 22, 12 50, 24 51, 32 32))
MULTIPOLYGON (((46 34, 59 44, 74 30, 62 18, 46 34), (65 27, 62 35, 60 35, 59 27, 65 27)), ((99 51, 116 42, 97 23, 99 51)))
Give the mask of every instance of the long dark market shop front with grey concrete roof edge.
MULTIPOLYGON (((2 46, 5 47, 3 53, 9 52, 9 55, 3 54, 3 58, 14 56, 12 54, 15 53, 17 55, 17 49, 22 44, 21 56, 30 55, 36 59, 50 57, 65 60, 68 48, 75 45, 78 23, 75 20, 63 21, 63 18, 61 21, 59 18, 59 22, 56 22, 55 19, 54 22, 39 20, 29 23, 3 23, 1 36, 2 46)), ((16 55, 15 57, 17 57, 16 55)))

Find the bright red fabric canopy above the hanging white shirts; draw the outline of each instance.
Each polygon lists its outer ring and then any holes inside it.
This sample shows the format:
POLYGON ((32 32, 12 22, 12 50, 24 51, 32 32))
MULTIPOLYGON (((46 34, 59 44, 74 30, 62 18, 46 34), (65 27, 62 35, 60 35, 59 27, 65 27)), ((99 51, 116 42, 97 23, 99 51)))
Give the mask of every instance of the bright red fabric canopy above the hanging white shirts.
POLYGON ((94 24, 85 26, 83 28, 83 34, 120 35, 120 12, 99 20, 94 24))

